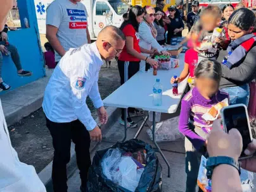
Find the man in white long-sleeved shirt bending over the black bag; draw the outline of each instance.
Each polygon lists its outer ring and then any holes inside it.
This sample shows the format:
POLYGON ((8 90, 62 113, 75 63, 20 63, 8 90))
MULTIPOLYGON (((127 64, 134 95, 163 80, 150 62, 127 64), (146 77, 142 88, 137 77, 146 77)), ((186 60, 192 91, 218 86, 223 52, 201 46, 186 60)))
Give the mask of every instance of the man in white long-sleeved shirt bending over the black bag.
POLYGON ((98 109, 99 121, 105 124, 108 116, 99 95, 98 77, 103 60, 118 56, 125 44, 122 31, 105 27, 93 44, 70 49, 54 69, 44 93, 42 107, 46 125, 53 137, 54 192, 67 192, 66 165, 70 160, 71 140, 75 143, 80 170, 81 191, 86 191, 87 172, 91 165, 90 138, 101 141, 101 130, 86 105, 89 95, 98 109))

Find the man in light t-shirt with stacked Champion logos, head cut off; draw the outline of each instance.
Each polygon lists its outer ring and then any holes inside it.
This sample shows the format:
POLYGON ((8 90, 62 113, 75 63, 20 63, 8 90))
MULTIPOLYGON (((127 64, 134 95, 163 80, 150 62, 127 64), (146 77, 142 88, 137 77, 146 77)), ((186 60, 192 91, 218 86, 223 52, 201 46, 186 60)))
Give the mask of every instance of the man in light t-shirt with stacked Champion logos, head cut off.
POLYGON ((58 63, 70 48, 91 43, 87 11, 81 0, 55 0, 46 9, 46 38, 58 63))

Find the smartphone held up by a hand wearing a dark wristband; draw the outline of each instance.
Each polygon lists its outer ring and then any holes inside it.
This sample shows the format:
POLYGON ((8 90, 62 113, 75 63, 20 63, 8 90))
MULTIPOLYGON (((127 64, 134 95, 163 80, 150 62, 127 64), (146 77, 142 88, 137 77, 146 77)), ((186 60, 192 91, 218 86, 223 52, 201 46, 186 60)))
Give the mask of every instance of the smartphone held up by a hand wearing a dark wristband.
POLYGON ((252 130, 248 117, 247 107, 244 104, 236 104, 224 107, 221 110, 223 128, 226 133, 230 129, 238 129, 243 138, 243 150, 239 159, 246 159, 252 156, 245 155, 245 149, 252 142, 252 130))

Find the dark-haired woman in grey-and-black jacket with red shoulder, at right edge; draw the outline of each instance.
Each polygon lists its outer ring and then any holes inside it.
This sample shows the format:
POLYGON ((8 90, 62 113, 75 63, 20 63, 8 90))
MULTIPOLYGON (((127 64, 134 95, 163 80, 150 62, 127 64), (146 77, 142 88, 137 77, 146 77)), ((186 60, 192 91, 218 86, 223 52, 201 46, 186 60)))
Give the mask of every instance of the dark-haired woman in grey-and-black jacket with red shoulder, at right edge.
MULTIPOLYGON (((232 42, 227 47, 226 56, 228 53, 231 54, 226 64, 222 64, 220 86, 222 90, 229 93, 231 105, 248 105, 250 95, 248 83, 256 77, 254 23, 254 13, 246 8, 234 11, 228 20, 228 33, 232 42)), ((219 57, 218 61, 221 63, 222 59, 219 57)))

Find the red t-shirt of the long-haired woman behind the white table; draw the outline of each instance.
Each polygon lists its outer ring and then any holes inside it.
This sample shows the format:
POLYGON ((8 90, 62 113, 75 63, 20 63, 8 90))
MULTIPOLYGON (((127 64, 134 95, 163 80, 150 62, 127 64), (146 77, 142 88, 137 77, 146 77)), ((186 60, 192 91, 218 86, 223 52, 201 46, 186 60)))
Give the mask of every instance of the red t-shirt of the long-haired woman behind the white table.
MULTIPOLYGON (((122 32, 124 33, 125 37, 127 36, 133 37, 133 49, 135 49, 140 53, 141 49, 139 48, 139 34, 136 32, 134 27, 132 27, 131 24, 128 24, 124 27, 122 32)), ((120 61, 141 61, 141 59, 138 59, 137 57, 134 57, 127 52, 126 44, 124 45, 124 49, 120 53, 120 56, 118 57, 118 59, 120 61)))

